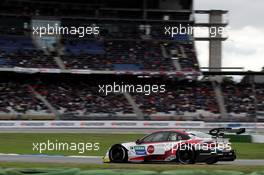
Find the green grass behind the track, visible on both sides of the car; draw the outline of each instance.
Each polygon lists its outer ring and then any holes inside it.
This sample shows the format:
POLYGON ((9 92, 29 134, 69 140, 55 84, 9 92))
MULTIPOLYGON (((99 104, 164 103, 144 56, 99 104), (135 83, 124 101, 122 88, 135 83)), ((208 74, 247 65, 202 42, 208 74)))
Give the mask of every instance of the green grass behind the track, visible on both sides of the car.
MULTIPOLYGON (((33 151, 33 142, 67 142, 67 143, 100 143, 99 151, 45 151, 50 155, 89 155, 103 156, 106 150, 115 143, 134 141, 143 134, 66 134, 66 133, 0 133, 0 153, 39 154, 33 151)), ((238 159, 264 159, 264 144, 232 143, 236 149, 238 159)))

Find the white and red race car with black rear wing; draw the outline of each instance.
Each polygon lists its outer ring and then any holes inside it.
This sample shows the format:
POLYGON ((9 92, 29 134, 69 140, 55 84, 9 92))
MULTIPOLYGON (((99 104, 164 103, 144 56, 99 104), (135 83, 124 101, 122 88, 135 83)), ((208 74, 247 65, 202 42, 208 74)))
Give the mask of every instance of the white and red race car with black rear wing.
POLYGON ((231 143, 223 139, 224 132, 245 132, 244 129, 212 129, 209 134, 199 131, 156 131, 135 142, 115 144, 103 158, 105 163, 125 162, 179 162, 214 164, 234 161, 236 154, 231 143))

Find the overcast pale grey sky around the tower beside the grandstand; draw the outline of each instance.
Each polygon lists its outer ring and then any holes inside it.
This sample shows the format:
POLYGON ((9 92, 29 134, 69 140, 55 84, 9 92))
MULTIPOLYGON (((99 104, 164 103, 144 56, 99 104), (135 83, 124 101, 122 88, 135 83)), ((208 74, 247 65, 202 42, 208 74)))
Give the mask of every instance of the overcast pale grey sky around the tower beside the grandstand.
MULTIPOLYGON (((195 10, 229 10, 229 39, 223 44, 223 66, 260 71, 264 67, 264 0, 194 0, 195 10)), ((201 66, 208 66, 208 43, 197 42, 201 66)))

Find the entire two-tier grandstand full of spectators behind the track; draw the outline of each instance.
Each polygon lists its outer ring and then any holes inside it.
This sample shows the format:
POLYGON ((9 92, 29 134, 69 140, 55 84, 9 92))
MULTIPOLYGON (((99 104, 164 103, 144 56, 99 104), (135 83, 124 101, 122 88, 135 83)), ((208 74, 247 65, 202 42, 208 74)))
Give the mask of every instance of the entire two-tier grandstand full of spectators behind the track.
MULTIPOLYGON (((255 121, 262 84, 253 93, 251 84, 198 80, 195 38, 165 35, 165 26, 198 25, 193 16, 192 0, 1 1, 0 119, 255 121), (33 35, 46 24, 100 33, 33 35), (166 92, 98 92, 113 81, 166 84, 166 92)), ((211 66, 220 42, 211 43, 211 66)))

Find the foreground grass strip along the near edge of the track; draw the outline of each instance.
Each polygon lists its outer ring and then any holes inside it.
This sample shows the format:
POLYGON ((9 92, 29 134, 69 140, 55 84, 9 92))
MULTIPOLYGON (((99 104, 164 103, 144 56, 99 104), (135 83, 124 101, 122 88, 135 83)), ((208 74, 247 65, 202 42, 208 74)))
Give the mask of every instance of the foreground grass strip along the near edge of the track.
POLYGON ((82 170, 94 169, 138 169, 150 171, 167 170, 232 170, 250 173, 253 171, 263 171, 264 166, 250 165, 172 165, 172 164, 49 164, 49 163, 21 163, 21 162, 0 162, 2 168, 80 168, 82 170))

